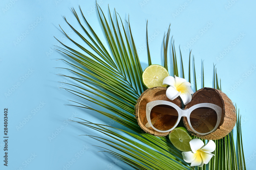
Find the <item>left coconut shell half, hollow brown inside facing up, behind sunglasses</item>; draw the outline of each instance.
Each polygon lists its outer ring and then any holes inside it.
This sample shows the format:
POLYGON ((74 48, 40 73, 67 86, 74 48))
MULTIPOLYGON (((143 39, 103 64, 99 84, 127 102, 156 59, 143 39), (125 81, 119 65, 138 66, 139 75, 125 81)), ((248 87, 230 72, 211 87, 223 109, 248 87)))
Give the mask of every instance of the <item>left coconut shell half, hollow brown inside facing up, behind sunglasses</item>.
MULTIPOLYGON (((136 119, 138 121, 138 124, 140 127, 146 132, 154 136, 166 136, 170 132, 161 133, 154 130, 152 127, 147 128, 145 125, 147 123, 147 117, 146 117, 146 105, 148 102, 155 101, 155 100, 166 100, 173 102, 178 107, 181 108, 182 103, 180 97, 177 97, 174 100, 170 100, 166 97, 166 87, 152 87, 147 90, 145 90, 140 98, 137 100, 137 104, 135 106, 135 113, 136 113, 136 119)), ((165 123, 163 122, 163 125, 165 123)))

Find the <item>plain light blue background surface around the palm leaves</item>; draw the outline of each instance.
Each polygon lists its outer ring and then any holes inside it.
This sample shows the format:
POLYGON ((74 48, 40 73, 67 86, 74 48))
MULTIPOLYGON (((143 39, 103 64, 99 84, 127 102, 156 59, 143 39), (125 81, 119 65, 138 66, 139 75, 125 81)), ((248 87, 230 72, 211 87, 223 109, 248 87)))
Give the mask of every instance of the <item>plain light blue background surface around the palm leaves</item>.
MULTIPOLYGON (((198 89, 201 88, 201 60, 204 60, 207 87, 212 87, 213 63, 216 64, 222 91, 237 104, 242 114, 246 166, 254 169, 256 2, 101 0, 98 3, 106 15, 108 4, 111 14, 114 14, 116 8, 123 21, 130 15, 132 34, 143 69, 147 66, 147 50, 143 47, 146 43, 147 19, 148 36, 152 40, 149 44, 152 63, 163 65, 163 36, 171 23, 171 35, 174 35, 176 47, 180 45, 182 51, 185 75, 188 75, 189 49, 192 49, 195 56, 198 89)), ((71 45, 58 24, 75 39, 77 35, 66 24, 63 15, 80 29, 71 11, 71 7, 79 11, 78 5, 94 31, 104 40, 94 0, 1 2, 0 137, 4 136, 3 110, 8 108, 9 139, 8 167, 2 162, 2 139, 0 142, 0 169, 59 170, 65 169, 65 166, 67 169, 129 169, 121 161, 116 164, 116 160, 110 155, 97 152, 102 151, 102 148, 92 146, 106 147, 102 143, 86 136, 78 136, 101 134, 66 121, 80 117, 94 123, 118 126, 98 113, 65 106, 70 104, 67 99, 76 98, 59 88, 67 86, 59 82, 70 80, 56 74, 69 75, 70 72, 55 67, 70 67, 57 60, 63 58, 63 55, 54 50, 54 45, 60 45, 54 36, 71 45), (54 137, 54 133, 58 135, 54 137), (67 165, 70 161, 73 162, 69 167, 67 165)), ((80 12, 78 15, 81 16, 80 12)), ((234 130, 236 132, 236 128, 234 130)))

